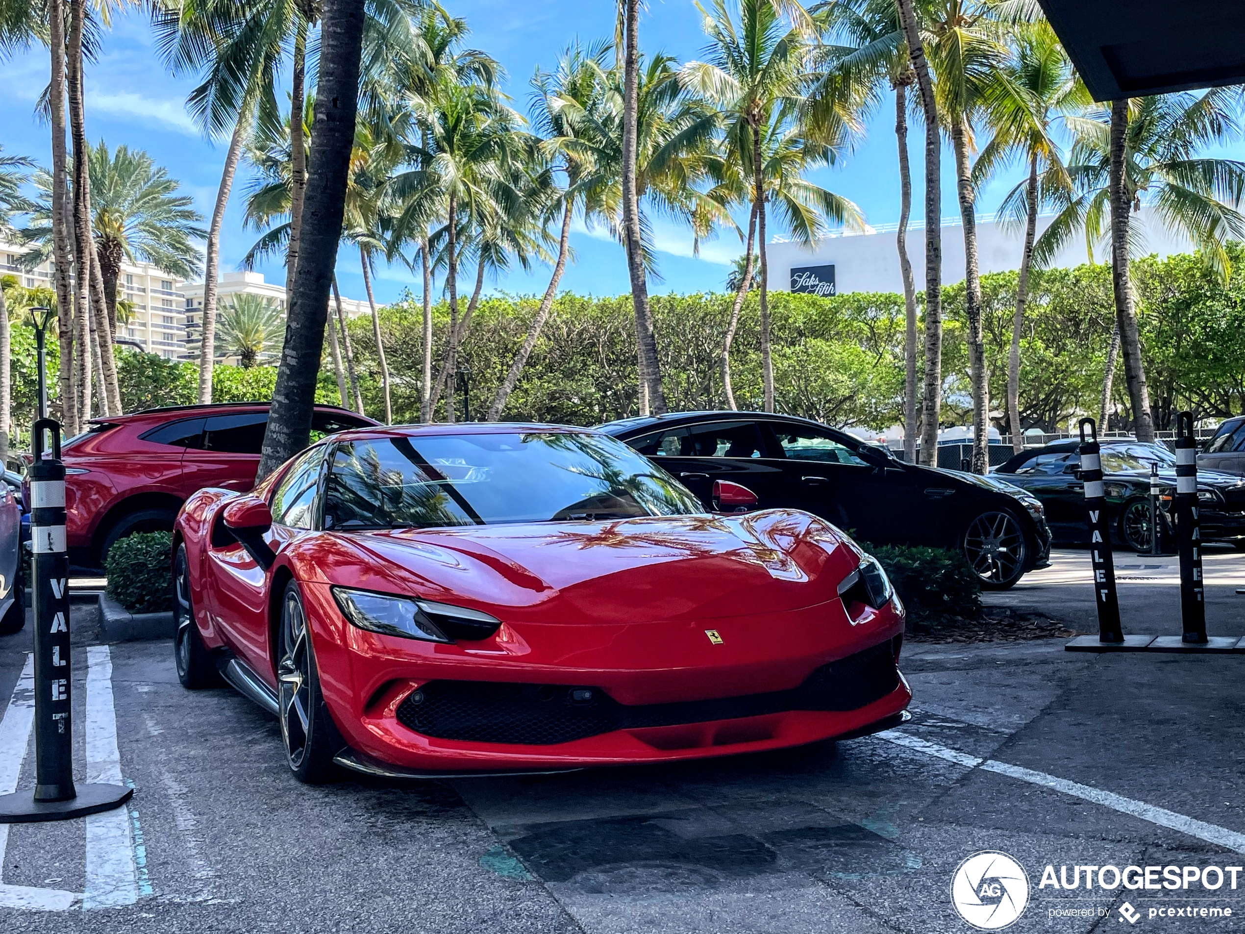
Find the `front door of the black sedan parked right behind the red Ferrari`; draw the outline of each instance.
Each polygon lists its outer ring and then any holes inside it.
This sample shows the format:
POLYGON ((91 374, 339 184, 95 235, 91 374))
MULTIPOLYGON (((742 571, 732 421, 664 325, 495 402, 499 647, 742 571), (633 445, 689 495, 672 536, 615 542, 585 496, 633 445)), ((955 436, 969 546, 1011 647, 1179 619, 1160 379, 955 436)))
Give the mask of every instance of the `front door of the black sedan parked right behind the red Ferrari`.
POLYGON ((884 452, 863 451, 858 441, 833 428, 804 422, 769 423, 772 463, 783 472, 791 506, 829 519, 854 537, 876 544, 939 540, 942 496, 950 484, 925 496, 929 483, 884 452))

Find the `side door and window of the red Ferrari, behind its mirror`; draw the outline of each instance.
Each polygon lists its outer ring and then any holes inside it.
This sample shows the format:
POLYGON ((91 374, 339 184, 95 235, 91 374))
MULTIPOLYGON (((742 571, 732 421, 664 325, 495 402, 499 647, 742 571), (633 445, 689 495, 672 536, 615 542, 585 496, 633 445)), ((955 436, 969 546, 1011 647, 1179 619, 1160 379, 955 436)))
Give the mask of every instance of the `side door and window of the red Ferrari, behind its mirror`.
MULTIPOLYGON (((273 528, 265 538, 274 552, 280 552, 286 542, 317 524, 324 451, 324 445, 305 451, 273 488, 269 501, 273 528)), ((215 608, 230 648, 275 687, 266 626, 268 575, 250 553, 230 537, 213 540, 208 562, 208 599, 215 608)))

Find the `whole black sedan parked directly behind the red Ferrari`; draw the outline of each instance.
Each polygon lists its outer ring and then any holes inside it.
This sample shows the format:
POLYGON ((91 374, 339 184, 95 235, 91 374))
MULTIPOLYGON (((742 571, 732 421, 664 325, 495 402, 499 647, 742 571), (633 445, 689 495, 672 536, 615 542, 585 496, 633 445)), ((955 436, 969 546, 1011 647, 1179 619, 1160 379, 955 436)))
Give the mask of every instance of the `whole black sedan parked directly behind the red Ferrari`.
POLYGON ((761 508, 792 507, 875 544, 962 549, 987 589, 1046 567, 1042 507, 1000 484, 918 467, 819 422, 763 412, 679 412, 599 426, 679 477, 706 506, 713 481, 761 508))

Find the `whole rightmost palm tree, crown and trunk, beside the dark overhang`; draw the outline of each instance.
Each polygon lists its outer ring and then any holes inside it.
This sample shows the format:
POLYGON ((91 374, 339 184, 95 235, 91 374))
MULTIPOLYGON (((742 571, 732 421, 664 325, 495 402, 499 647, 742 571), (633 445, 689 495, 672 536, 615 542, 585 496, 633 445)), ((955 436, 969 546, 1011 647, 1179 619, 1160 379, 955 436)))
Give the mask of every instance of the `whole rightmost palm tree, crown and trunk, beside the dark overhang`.
POLYGON ((1220 87, 1113 101, 1109 111, 1066 118, 1074 134, 1067 167, 1073 193, 1037 239, 1035 262, 1050 262, 1081 230, 1092 249, 1109 223, 1116 326, 1134 432, 1143 441, 1154 440, 1154 417, 1128 273, 1129 253, 1140 245, 1129 214, 1144 202, 1153 204, 1159 219, 1186 234, 1205 263, 1226 278, 1224 243, 1245 237, 1245 217, 1238 210, 1245 162, 1199 152, 1238 132, 1240 97, 1240 87, 1220 87))

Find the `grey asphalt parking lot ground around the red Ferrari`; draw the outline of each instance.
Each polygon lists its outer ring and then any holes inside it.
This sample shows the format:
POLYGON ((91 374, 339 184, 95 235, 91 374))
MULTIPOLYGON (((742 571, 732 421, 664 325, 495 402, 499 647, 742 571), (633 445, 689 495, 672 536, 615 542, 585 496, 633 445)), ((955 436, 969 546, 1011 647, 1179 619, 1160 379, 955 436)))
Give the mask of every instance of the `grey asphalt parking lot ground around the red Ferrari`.
MULTIPOLYGON (((1088 559, 1056 558, 991 601, 1079 613, 1088 559)), ((1245 557, 1213 563, 1211 631, 1245 633, 1233 585, 1245 557)), ((1178 633, 1175 587, 1149 570, 1122 583, 1125 628, 1178 633)), ((969 932, 950 882, 979 851, 1028 874, 1011 930, 1245 932, 1245 875, 1196 893, 1038 884, 1047 866, 1245 864, 1245 655, 911 644, 914 717, 881 736, 684 766, 306 787, 275 720, 228 689, 184 691, 167 644, 102 646, 95 633, 80 611, 77 761, 83 778, 120 770, 136 793, 112 814, 0 826, 0 932, 969 932), (1231 915, 1150 917, 1195 895, 1231 915)), ((10 787, 34 781, 29 649, 29 626, 0 639, 10 787)))

